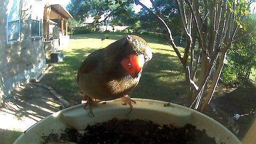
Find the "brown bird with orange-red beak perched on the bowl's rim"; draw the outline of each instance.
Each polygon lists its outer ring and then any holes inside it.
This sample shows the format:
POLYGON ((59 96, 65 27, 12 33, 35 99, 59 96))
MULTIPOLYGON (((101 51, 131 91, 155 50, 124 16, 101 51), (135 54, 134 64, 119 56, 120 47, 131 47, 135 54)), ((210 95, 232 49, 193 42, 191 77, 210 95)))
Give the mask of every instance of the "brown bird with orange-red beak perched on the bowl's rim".
POLYGON ((89 54, 77 71, 77 83, 87 100, 90 113, 95 99, 101 101, 124 98, 122 105, 132 100, 128 93, 138 85, 142 69, 153 58, 152 49, 142 37, 127 35, 103 49, 89 54))

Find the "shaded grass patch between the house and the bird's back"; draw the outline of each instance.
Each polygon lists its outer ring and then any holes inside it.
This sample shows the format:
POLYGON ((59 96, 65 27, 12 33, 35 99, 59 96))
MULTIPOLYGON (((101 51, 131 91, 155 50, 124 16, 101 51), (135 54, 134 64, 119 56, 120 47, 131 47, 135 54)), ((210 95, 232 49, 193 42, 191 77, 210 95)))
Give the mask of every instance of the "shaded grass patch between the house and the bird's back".
POLYGON ((53 73, 47 74, 41 80, 41 83, 53 87, 58 94, 62 95, 71 104, 76 105, 80 103, 82 91, 76 82, 77 70, 87 55, 93 51, 95 50, 85 48, 63 52, 66 55, 64 61, 54 64, 53 73))

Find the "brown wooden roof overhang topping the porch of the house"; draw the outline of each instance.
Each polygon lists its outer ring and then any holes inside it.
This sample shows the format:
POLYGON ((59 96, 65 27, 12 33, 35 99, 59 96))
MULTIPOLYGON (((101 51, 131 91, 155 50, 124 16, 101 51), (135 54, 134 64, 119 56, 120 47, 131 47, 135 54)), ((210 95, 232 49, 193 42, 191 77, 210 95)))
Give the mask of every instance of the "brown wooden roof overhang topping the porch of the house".
POLYGON ((51 7, 50 19, 73 18, 73 16, 59 4, 53 4, 53 5, 50 5, 50 7, 51 7))

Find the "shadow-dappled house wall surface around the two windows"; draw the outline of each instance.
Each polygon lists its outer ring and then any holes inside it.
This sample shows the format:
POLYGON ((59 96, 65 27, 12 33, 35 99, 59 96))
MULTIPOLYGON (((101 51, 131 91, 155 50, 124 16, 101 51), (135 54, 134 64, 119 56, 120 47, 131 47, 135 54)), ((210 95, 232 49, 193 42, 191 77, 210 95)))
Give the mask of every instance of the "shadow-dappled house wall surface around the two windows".
MULTIPOLYGON (((37 14, 43 22, 44 4, 42 1, 22 0, 20 15, 21 38, 18 42, 7 44, 6 11, 9 0, 0 1, 0 103, 22 82, 33 78, 45 66, 43 38, 31 38, 31 13, 37 14), (37 11, 31 12, 31 6, 37 11)), ((43 25, 41 25, 43 31, 43 25)), ((41 32, 42 35, 42 32, 41 32)))

